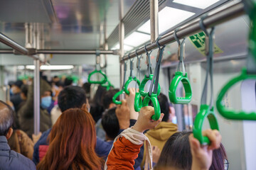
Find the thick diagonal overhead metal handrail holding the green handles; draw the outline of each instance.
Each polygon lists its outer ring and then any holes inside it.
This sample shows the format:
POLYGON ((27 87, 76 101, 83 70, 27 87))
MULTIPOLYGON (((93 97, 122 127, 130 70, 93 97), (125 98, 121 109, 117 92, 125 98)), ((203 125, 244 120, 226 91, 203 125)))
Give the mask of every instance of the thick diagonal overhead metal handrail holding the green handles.
MULTIPOLYGON (((243 14, 245 14, 244 5, 242 4, 242 2, 238 2, 237 4, 234 4, 228 8, 210 14, 203 20, 203 24, 206 26, 206 28, 211 28, 213 26, 219 25, 220 23, 224 23, 226 21, 230 21, 233 18, 237 18, 238 16, 242 16, 243 14)), ((181 28, 179 28, 176 33, 178 38, 181 39, 189 35, 198 33, 200 31, 200 24, 198 19, 196 19, 195 21, 186 24, 186 26, 182 26, 181 28)), ((171 30, 169 33, 166 33, 166 35, 159 39, 159 44, 166 45, 174 41, 176 41, 174 38, 174 30, 171 30)), ((153 42, 150 45, 146 45, 147 50, 153 50, 156 47, 156 42, 153 42)), ((138 55, 142 55, 144 54, 144 52, 144 47, 141 47, 139 48, 139 50, 137 50, 138 55)), ((135 52, 130 53, 130 57, 136 57, 135 52)), ((124 60, 129 60, 129 57, 127 55, 124 56, 124 60)))

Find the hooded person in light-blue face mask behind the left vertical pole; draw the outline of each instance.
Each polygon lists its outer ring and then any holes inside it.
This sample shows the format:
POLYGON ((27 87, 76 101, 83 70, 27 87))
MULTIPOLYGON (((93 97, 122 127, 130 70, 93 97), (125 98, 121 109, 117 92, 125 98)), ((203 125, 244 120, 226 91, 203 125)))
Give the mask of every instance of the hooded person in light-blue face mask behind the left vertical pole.
MULTIPOLYGON (((50 114, 46 110, 51 103, 51 87, 43 79, 40 79, 40 131, 44 132, 51 127, 50 114)), ((29 137, 33 134, 33 83, 28 86, 26 103, 18 111, 18 124, 20 129, 29 137)))

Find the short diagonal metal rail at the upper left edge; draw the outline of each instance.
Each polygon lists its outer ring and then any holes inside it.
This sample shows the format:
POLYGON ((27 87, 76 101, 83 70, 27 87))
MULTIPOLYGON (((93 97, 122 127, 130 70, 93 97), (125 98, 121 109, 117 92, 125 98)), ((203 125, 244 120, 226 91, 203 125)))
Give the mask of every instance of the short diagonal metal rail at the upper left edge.
POLYGON ((21 52, 22 55, 28 54, 28 50, 26 50, 25 47, 22 47, 14 40, 11 40, 11 38, 7 37, 3 33, 0 33, 0 42, 3 42, 5 45, 12 47, 14 50, 17 50, 18 52, 21 52))

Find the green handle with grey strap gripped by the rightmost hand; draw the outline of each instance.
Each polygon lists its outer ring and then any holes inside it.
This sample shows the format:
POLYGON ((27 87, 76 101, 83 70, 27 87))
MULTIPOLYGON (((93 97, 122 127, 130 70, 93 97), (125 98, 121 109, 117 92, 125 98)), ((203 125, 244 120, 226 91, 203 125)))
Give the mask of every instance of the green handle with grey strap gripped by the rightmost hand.
MULTIPOLYGON (((204 17, 203 17, 204 18, 204 17)), ((193 125, 193 135, 199 140, 201 145, 209 145, 210 140, 208 137, 204 137, 202 134, 203 122, 208 118, 210 128, 219 130, 218 121, 215 117, 213 108, 213 53, 214 53, 214 30, 211 28, 210 33, 207 32, 206 27, 203 25, 203 18, 201 18, 200 26, 203 32, 206 33, 206 56, 207 56, 207 67, 206 67, 206 81, 203 86, 203 93, 201 97, 201 107, 199 113, 196 115, 195 122, 193 125), (210 104, 206 104, 207 99, 207 86, 208 86, 208 74, 210 75, 210 104)))

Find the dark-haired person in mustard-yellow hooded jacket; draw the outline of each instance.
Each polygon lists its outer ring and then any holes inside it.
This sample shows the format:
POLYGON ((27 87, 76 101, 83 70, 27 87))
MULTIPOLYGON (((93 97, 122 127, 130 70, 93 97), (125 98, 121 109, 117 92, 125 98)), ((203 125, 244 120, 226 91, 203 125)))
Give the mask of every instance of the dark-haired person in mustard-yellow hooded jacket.
MULTIPOLYGON (((171 135, 174 135, 174 133, 178 131, 178 127, 176 124, 171 123, 171 108, 169 107, 168 98, 164 94, 159 94, 157 99, 159 100, 161 113, 164 113, 164 118, 162 119, 161 123, 156 126, 156 128, 147 131, 145 135, 149 138, 149 142, 151 143, 151 145, 153 147, 156 146, 156 148, 159 148, 161 152, 164 144, 169 139, 169 137, 171 137, 171 135)), ((144 150, 144 155, 145 154, 146 153, 144 150)), ((142 160, 141 167, 143 167, 144 164, 145 158, 142 160)))

